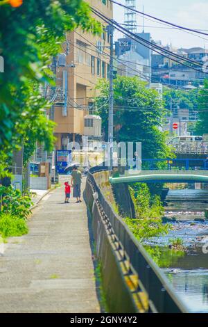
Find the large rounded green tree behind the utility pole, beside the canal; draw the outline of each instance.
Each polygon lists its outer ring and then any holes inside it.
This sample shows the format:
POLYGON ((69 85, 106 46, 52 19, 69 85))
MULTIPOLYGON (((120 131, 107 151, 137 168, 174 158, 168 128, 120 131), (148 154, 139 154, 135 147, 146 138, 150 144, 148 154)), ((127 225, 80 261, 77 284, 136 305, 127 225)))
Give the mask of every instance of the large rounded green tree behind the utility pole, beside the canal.
MULTIPOLYGON (((96 99, 96 105, 107 140, 108 82, 100 81, 98 89, 101 95, 96 99)), ((115 141, 141 142, 143 158, 170 157, 166 134, 159 130, 164 113, 162 99, 157 91, 146 88, 145 82, 137 77, 114 79, 115 141)))

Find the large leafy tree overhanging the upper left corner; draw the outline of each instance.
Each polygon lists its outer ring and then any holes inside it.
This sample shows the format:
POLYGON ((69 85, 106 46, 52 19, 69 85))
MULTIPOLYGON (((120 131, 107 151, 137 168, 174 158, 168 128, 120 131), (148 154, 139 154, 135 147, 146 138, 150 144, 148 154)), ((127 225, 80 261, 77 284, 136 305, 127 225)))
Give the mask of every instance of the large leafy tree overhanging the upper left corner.
POLYGON ((45 141, 49 150, 53 146, 53 128, 46 118, 48 106, 40 85, 54 85, 47 67, 60 51, 65 33, 78 26, 101 33, 101 24, 91 17, 83 0, 27 0, 12 8, 14 3, 0 2, 0 55, 4 58, 4 73, 0 74, 0 175, 15 147, 28 140, 32 145, 45 141))

